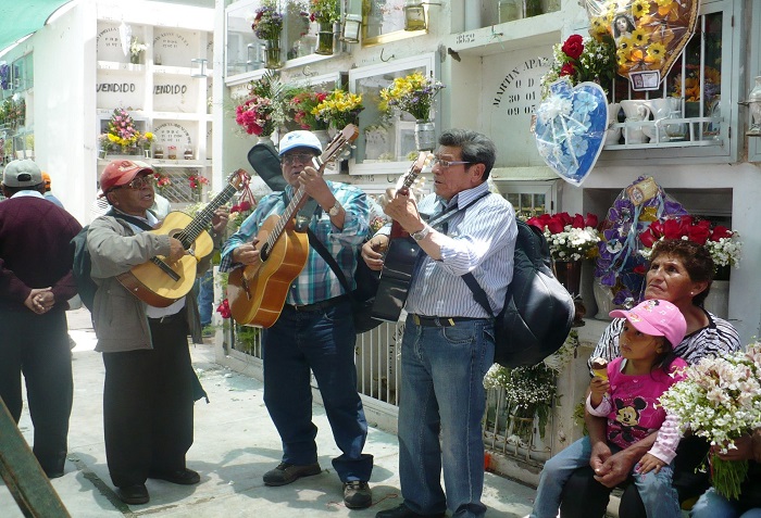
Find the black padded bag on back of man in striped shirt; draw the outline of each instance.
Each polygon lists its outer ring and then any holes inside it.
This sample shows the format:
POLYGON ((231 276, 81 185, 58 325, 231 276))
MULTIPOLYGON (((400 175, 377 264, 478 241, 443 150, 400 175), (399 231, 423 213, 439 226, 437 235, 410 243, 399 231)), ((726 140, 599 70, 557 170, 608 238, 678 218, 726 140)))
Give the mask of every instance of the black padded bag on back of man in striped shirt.
MULTIPOLYGON (((508 368, 536 365, 558 351, 571 331, 575 312, 573 296, 552 274, 545 236, 524 222, 516 224, 513 279, 495 319, 495 363, 508 368)), ((462 277, 476 302, 492 314, 473 274, 462 277)))

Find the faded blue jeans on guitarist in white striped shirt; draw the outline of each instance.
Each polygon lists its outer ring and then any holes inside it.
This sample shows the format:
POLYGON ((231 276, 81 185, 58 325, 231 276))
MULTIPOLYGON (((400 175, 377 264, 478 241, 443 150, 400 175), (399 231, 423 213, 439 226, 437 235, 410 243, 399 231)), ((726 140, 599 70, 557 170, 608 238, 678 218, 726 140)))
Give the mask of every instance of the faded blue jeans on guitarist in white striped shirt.
POLYGON ((483 517, 484 375, 494 361, 490 320, 421 327, 407 319, 401 345, 399 479, 404 505, 431 515, 483 517), (440 433, 440 443, 439 443, 440 433), (444 468, 446 496, 440 477, 444 468))

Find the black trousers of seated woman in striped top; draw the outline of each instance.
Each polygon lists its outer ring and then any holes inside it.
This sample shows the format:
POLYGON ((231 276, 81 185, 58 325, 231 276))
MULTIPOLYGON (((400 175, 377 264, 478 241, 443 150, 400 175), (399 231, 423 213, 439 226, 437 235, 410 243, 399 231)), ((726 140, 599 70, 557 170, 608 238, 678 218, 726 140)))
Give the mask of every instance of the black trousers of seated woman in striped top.
MULTIPOLYGON (((709 443, 698 437, 687 437, 679 441, 674 457, 674 479, 672 481, 684 502, 701 495, 710 485, 708 476, 695 472, 706 458, 709 443)), ((589 466, 578 468, 565 482, 560 505, 561 518, 597 518, 606 514, 610 500, 609 488, 594 479, 595 472, 589 466)), ((646 518, 645 505, 633 483, 625 483, 626 489, 619 506, 620 518, 646 518)))

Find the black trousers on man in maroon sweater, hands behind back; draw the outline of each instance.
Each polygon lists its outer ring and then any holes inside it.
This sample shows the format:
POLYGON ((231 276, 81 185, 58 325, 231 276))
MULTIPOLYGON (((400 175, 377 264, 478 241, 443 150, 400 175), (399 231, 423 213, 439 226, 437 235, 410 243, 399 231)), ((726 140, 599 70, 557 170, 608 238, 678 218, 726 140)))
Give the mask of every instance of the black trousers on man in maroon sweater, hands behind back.
POLYGON ((64 311, 0 311, 0 397, 16 422, 22 372, 35 428, 33 452, 49 477, 63 475, 74 390, 64 311))

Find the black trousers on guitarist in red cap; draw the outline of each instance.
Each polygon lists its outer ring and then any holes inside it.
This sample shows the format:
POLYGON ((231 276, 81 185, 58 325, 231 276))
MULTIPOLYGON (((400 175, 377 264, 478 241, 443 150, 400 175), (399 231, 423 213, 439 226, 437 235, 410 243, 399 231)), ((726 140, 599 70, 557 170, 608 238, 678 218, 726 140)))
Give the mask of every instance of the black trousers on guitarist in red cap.
POLYGON ((192 367, 185 311, 149 319, 153 349, 103 353, 105 458, 116 487, 185 469, 192 444, 192 367))

